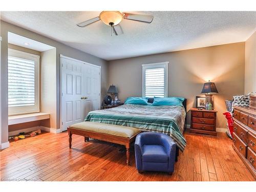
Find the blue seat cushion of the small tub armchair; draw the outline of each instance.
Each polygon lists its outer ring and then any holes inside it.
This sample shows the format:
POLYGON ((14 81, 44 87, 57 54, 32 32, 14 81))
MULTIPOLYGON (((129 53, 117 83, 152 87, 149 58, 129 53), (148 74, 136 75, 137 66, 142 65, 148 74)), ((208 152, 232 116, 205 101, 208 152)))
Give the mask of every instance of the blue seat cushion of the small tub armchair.
POLYGON ((168 162, 168 155, 162 145, 143 145, 142 147, 143 162, 168 162))

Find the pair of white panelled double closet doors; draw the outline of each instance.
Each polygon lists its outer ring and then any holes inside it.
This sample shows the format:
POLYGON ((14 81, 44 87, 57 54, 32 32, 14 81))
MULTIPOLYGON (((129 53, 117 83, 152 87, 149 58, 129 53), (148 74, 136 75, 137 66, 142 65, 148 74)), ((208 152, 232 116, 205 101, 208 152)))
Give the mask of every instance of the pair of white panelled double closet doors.
POLYGON ((60 62, 61 124, 62 131, 66 131, 70 125, 82 122, 90 111, 100 109, 100 68, 63 57, 60 62))

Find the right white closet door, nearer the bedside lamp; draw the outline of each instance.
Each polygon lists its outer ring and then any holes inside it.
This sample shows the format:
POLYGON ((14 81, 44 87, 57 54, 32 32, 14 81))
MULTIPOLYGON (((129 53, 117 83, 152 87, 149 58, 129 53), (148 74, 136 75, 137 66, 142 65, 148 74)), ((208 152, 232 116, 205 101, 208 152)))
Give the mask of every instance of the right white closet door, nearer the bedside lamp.
POLYGON ((88 97, 85 103, 86 115, 90 111, 100 109, 100 68, 91 65, 84 66, 84 91, 88 97))

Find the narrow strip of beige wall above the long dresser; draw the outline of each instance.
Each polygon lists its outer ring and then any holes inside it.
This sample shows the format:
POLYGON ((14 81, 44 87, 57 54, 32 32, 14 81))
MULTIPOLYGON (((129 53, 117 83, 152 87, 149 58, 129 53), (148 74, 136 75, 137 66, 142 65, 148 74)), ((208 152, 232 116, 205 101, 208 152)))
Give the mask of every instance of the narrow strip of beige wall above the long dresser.
POLYGON ((256 92, 256 31, 245 41, 244 93, 256 92))

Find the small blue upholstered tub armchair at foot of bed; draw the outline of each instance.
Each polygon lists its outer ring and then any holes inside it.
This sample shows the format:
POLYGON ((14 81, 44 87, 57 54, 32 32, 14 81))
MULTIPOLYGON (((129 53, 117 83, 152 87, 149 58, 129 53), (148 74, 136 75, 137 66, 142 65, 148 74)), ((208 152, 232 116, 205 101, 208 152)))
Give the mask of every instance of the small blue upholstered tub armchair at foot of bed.
POLYGON ((135 158, 139 173, 144 170, 174 172, 176 143, 162 133, 144 132, 136 137, 135 158))

